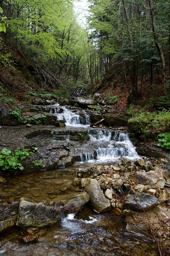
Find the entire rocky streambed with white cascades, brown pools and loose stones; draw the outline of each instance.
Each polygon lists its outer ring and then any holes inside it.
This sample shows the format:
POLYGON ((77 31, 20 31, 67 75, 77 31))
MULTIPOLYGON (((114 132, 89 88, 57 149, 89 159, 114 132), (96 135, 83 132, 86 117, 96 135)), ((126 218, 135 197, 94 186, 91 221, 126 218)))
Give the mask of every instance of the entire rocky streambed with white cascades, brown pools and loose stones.
POLYGON ((168 255, 170 164, 154 158, 167 153, 142 159, 127 127, 90 128, 101 119, 94 111, 24 108, 26 120, 51 124, 7 126, 1 115, 1 149, 38 148, 24 170, 1 171, 1 235, 14 231, 1 238, 1 255, 159 255, 151 229, 168 255))

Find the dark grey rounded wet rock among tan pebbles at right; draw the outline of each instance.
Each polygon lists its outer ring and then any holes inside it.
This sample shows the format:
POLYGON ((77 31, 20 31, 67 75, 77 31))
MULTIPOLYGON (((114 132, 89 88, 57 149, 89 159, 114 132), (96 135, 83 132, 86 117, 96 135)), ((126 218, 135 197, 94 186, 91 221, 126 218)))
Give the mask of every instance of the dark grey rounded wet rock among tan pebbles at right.
POLYGON ((126 208, 136 211, 143 211, 142 208, 147 211, 160 203, 158 198, 148 193, 135 194, 135 199, 132 194, 128 194, 124 200, 124 206, 126 208))

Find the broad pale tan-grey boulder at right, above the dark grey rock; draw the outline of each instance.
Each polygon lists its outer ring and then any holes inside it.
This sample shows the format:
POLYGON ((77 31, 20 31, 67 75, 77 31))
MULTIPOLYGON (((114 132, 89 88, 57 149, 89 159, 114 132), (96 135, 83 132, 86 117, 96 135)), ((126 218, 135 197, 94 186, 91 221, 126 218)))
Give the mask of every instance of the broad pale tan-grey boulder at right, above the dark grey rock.
POLYGON ((134 172, 129 175, 129 179, 136 183, 144 185, 150 185, 152 188, 164 188, 165 182, 161 172, 149 171, 149 172, 134 172))

